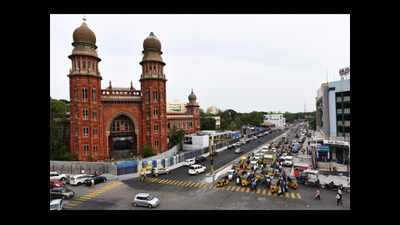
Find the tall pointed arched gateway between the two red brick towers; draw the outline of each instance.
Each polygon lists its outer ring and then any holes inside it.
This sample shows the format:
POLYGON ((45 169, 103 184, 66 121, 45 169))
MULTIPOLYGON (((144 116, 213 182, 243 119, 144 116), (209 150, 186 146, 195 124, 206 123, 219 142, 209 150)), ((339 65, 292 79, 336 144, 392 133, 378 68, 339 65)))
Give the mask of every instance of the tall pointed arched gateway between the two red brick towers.
POLYGON ((108 155, 114 159, 136 156, 139 149, 139 125, 128 112, 119 112, 107 123, 108 155))

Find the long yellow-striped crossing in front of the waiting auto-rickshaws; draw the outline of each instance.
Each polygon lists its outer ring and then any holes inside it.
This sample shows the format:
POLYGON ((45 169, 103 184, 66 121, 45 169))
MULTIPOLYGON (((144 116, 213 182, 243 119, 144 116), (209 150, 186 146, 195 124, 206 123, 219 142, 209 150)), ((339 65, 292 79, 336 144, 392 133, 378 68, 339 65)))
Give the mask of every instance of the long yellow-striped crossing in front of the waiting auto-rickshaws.
POLYGON ((161 179, 161 178, 146 178, 146 181, 152 183, 159 184, 170 184, 176 185, 179 187, 187 187, 187 188, 199 188, 199 189, 214 189, 219 191, 230 191, 230 192, 244 192, 244 193, 254 193, 258 195, 264 196, 275 196, 280 198, 292 198, 292 199, 301 199, 300 193, 286 192, 283 195, 278 196, 277 193, 271 193, 270 190, 264 188, 257 188, 255 190, 251 190, 250 187, 241 187, 241 186, 225 186, 225 187, 217 187, 215 184, 207 184, 207 183, 199 183, 193 181, 181 181, 181 180, 171 180, 171 179, 161 179))

